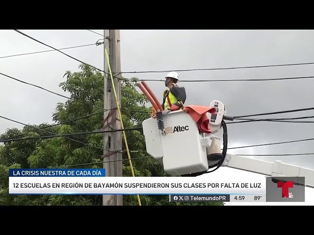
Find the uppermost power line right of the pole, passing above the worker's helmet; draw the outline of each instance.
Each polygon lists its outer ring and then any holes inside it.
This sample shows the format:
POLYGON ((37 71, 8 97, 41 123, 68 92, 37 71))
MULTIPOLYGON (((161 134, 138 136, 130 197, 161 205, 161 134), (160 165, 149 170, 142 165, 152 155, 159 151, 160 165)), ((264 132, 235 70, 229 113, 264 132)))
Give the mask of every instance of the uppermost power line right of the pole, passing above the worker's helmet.
POLYGON ((311 63, 298 63, 298 64, 281 64, 281 65, 262 65, 262 66, 245 66, 245 67, 231 67, 231 68, 212 68, 212 69, 189 69, 189 70, 162 70, 162 71, 129 71, 121 73, 158 73, 158 72, 171 72, 171 71, 208 71, 208 70, 235 70, 235 69, 252 69, 252 68, 265 68, 265 67, 280 67, 280 66, 295 66, 295 65, 313 65, 311 63))

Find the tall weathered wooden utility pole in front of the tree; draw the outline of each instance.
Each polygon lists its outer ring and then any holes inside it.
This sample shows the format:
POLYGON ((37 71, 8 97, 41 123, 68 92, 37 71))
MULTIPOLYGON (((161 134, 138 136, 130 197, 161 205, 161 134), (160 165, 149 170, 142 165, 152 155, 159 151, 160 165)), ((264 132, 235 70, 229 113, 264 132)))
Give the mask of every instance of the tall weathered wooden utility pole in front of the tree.
MULTIPOLYGON (((121 59, 120 59, 120 30, 104 30, 104 130, 121 129, 120 117, 111 83, 105 48, 109 54, 109 62, 114 80, 114 86, 121 108, 121 59), (115 77, 116 76, 116 77, 115 77)), ((122 177, 122 133, 121 131, 104 133, 103 159, 106 177, 122 177), (110 151, 107 151, 110 150, 110 151), (116 153, 115 151, 120 151, 116 153), (114 161, 114 162, 112 162, 114 161)), ((122 195, 103 195, 103 206, 122 206, 122 195)))

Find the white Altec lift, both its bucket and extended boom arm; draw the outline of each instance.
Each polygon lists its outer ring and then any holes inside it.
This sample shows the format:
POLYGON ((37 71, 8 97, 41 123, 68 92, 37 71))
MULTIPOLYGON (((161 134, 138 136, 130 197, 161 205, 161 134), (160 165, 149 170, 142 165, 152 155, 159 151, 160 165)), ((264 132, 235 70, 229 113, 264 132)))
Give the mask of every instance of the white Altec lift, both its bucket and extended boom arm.
MULTIPOLYGON (((314 169, 285 164, 281 161, 271 163, 226 154, 228 136, 224 119, 233 120, 233 118, 226 116, 226 108, 222 102, 213 100, 209 106, 216 109, 215 114, 206 114, 209 118, 210 134, 201 133, 195 120, 182 110, 170 112, 165 116, 159 113, 157 118, 143 121, 146 151, 163 165, 165 172, 172 176, 195 176, 206 173, 215 166, 218 168, 227 166, 271 176, 274 179, 305 177, 305 186, 314 188, 314 169), (209 137, 221 128, 224 130, 222 152, 220 139, 209 137)), ((302 185, 302 182, 294 183, 302 185)))

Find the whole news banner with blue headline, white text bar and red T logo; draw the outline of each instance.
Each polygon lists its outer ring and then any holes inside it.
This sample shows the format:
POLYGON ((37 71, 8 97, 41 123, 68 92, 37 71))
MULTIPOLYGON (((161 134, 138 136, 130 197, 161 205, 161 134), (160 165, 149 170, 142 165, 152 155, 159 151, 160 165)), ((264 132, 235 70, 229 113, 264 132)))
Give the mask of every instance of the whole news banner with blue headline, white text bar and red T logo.
POLYGON ((9 169, 9 194, 163 194, 175 202, 304 202, 304 177, 105 177, 105 169, 9 169), (280 180, 280 178, 278 179, 280 180))

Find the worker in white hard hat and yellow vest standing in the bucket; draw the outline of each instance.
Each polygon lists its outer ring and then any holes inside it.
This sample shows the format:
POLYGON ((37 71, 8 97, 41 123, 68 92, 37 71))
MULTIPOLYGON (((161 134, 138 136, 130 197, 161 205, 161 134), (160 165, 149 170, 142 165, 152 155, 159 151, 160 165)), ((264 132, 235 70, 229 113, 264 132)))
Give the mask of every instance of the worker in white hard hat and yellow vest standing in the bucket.
POLYGON ((163 115, 184 108, 186 99, 185 88, 177 85, 177 82, 180 82, 179 74, 177 72, 169 72, 165 78, 165 86, 168 87, 168 90, 163 92, 161 104, 164 110, 162 112, 163 115))

